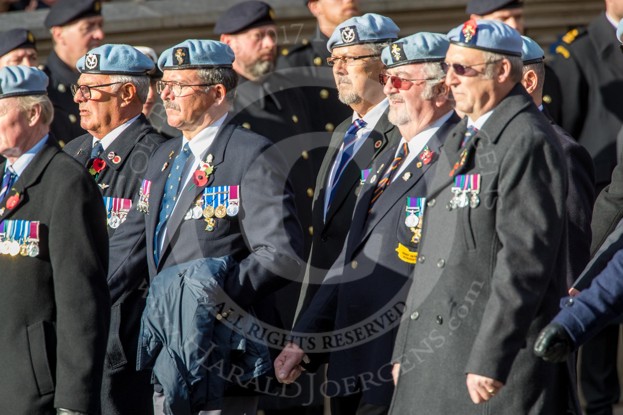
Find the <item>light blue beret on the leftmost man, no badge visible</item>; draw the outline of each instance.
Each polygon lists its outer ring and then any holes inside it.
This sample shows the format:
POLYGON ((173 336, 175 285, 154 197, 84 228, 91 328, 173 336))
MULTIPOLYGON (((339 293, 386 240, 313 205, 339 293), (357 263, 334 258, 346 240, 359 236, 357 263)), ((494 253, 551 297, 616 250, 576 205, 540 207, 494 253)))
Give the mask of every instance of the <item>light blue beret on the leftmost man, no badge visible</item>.
POLYGON ((0 69, 0 98, 46 94, 48 78, 39 68, 18 65, 0 69))

